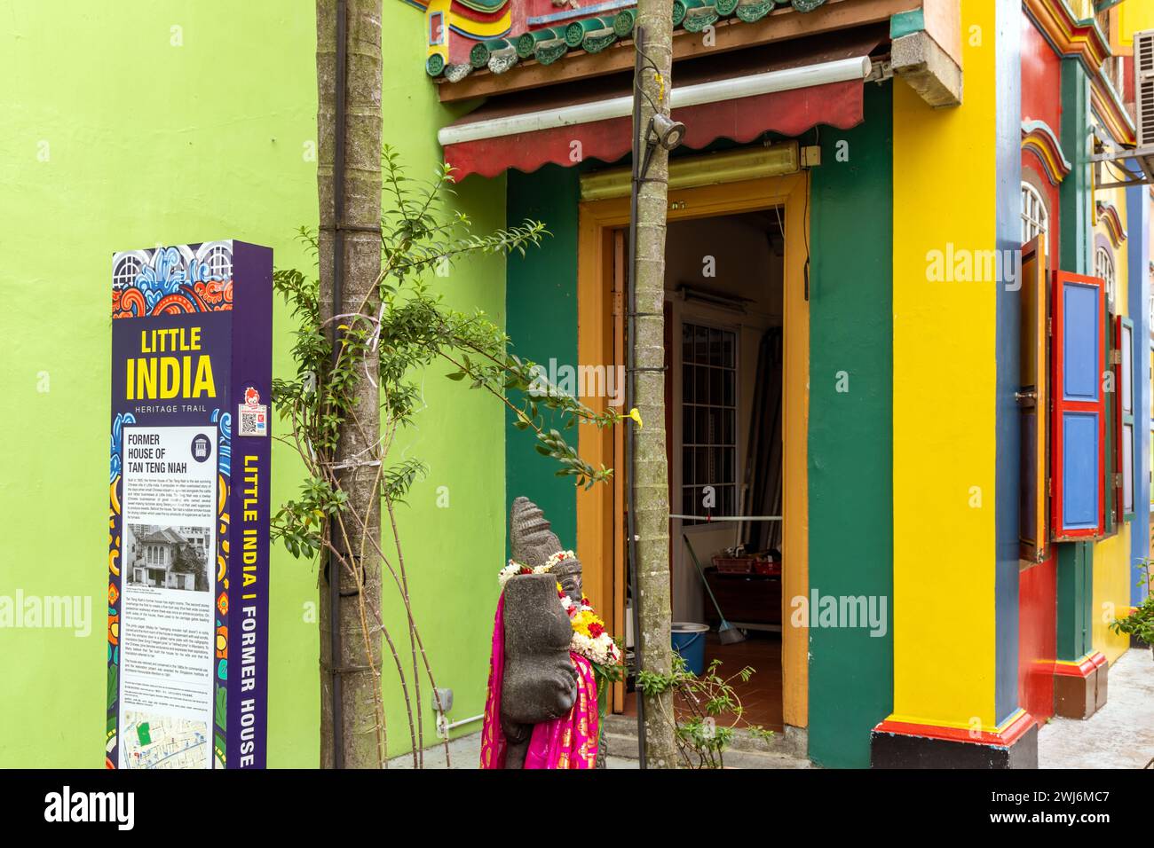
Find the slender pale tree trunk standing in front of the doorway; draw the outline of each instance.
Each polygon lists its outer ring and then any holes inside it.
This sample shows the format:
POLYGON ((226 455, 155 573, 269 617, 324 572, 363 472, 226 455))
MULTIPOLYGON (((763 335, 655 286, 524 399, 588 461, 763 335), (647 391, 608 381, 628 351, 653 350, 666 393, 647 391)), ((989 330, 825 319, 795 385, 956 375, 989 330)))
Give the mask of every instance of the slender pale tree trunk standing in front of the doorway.
MULTIPOLYGON (((669 113, 673 65, 673 21, 668 0, 638 0, 638 29, 645 31, 640 102, 640 157, 645 158, 644 130, 655 104, 669 113), (644 61, 647 58, 649 61, 644 61), (652 62, 652 65, 651 65, 652 62), (654 72, 653 65, 657 66, 654 72), (660 76, 658 76, 660 74, 660 76)), ((635 531, 643 667, 668 674, 669 646, 669 488, 665 455, 665 217, 669 153, 660 145, 650 159, 637 196, 635 286, 637 317, 634 322, 636 405, 645 422, 635 434, 635 531)), ((649 765, 675 768, 677 748, 673 735, 673 697, 645 699, 645 745, 649 765)))

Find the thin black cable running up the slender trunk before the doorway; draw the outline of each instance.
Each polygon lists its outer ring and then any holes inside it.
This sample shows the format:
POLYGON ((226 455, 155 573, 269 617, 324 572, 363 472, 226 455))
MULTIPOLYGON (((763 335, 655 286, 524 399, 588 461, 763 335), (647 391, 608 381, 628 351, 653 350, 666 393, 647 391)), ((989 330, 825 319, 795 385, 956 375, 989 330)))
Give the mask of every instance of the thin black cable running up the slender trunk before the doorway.
MULTIPOLYGON (((645 30, 640 27, 637 28, 636 35, 634 36, 634 45, 636 52, 634 53, 634 137, 632 137, 632 179, 630 180, 629 190, 629 273, 625 277, 625 290, 627 290, 627 303, 629 305, 628 313, 628 327, 629 331, 627 333, 629 340, 629 351, 625 354, 625 360, 628 362, 625 368, 625 374, 628 380, 625 382, 625 393, 629 396, 629 400, 625 403, 625 408, 631 410, 636 405, 637 398, 637 361, 636 361, 636 317, 637 317, 637 190, 640 188, 640 122, 642 122, 642 100, 640 100, 640 83, 642 83, 642 57, 644 54, 645 47, 645 30)), ((637 444, 634 435, 634 428, 629 427, 625 429, 625 478, 629 482, 627 487, 628 501, 627 501, 627 521, 625 521, 625 540, 629 545, 629 594, 632 600, 632 620, 634 620, 634 673, 635 680, 636 674, 642 669, 642 658, 643 658, 643 646, 642 646, 642 626, 640 626, 640 595, 637 591, 637 527, 636 527, 636 515, 635 509, 637 504, 637 475, 636 471, 636 455, 637 444)), ((642 696, 642 691, 637 688, 636 683, 634 685, 634 691, 637 695, 637 760, 642 768, 647 768, 647 761, 645 757, 645 698, 642 696)))

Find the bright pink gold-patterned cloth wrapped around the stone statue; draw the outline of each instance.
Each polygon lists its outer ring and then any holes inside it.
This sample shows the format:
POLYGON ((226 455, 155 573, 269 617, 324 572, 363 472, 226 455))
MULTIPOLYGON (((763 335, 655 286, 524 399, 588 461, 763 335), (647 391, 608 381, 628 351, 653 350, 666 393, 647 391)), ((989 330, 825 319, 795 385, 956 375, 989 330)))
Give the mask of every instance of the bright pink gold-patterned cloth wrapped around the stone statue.
MULTIPOLYGON (((568 714, 533 726, 525 768, 597 767, 597 678, 593 666, 578 654, 569 654, 577 669, 577 697, 568 714)), ((508 745, 501 730, 501 683, 504 681, 504 594, 497 601, 493 622, 493 653, 489 690, 481 728, 481 768, 504 768, 508 745)))

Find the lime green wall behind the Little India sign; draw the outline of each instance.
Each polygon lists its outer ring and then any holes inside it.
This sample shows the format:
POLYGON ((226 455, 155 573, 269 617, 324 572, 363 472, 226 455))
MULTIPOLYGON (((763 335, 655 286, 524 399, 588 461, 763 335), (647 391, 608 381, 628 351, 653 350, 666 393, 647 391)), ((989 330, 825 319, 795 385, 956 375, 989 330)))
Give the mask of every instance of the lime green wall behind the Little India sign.
MULTIPOLYGON (((235 237, 307 268, 315 225, 312 0, 0 0, 0 594, 91 599, 88 636, 0 630, 0 765, 100 766, 105 696, 110 264, 113 250, 235 237), (179 28, 179 29, 174 29, 179 28), (47 391, 43 389, 47 388, 47 391)), ((452 115, 425 78, 424 17, 385 0, 385 140, 425 178, 452 115)), ((459 208, 504 223, 503 180, 467 180, 459 208)), ((449 302, 504 316, 503 260, 437 279, 449 302)), ((292 325, 277 305, 275 369, 292 325)), ((480 713, 503 563, 504 422, 490 399, 424 375, 428 410, 403 450, 429 476, 403 510, 417 617, 452 719, 480 713), (449 506, 436 505, 448 487, 449 506)), ((273 502, 299 466, 273 451, 273 502)), ((276 551, 269 764, 317 761, 316 570, 276 551)), ((395 614, 389 616, 395 632, 395 614)), ((390 749, 404 750, 385 667, 390 749)), ((432 718, 428 688, 422 707, 432 718)), ((472 729, 472 728, 469 728, 472 729)), ((426 734, 426 743, 432 730, 426 734)))

